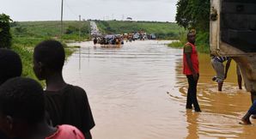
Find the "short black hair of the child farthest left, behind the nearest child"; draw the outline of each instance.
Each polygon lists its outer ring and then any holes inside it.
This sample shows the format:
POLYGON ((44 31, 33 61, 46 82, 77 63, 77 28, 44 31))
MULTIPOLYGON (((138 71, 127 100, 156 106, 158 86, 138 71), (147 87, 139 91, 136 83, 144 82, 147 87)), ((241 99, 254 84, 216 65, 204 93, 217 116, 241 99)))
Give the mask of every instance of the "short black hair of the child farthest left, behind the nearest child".
POLYGON ((0 48, 0 85, 9 78, 21 76, 21 57, 8 49, 0 48))

